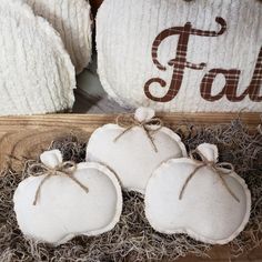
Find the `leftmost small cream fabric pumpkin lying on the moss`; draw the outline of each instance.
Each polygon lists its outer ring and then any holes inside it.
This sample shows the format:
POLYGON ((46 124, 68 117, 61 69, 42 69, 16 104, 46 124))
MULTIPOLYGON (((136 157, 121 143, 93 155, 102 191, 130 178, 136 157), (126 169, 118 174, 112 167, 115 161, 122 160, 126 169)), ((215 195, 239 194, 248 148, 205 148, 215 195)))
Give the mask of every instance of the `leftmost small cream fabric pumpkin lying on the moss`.
MULTIPOLYGON (((41 154, 42 163, 62 164, 58 150, 41 154)), ((14 192, 14 211, 20 230, 37 241, 62 244, 77 235, 98 235, 118 223, 122 211, 121 187, 115 175, 98 163, 80 163, 72 174, 88 192, 67 175, 48 174, 23 180, 14 192)))

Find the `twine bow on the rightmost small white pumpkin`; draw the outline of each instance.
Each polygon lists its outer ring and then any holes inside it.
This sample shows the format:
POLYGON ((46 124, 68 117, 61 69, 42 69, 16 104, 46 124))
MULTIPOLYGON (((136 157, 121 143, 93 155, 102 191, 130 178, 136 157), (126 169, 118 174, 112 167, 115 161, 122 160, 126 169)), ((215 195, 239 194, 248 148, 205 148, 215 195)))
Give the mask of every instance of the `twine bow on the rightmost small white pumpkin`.
POLYGON ((195 173, 204 168, 208 167, 211 170, 214 171, 215 174, 218 174, 218 177, 220 178, 223 187, 228 190, 228 192, 232 195, 232 198, 240 202, 239 198, 234 194, 234 192, 230 189, 230 187, 228 185, 226 181, 224 180, 223 175, 224 174, 231 174, 232 172, 234 172, 234 167, 231 163, 228 162, 222 162, 222 163, 215 163, 214 161, 209 161, 199 150, 194 150, 190 152, 190 158, 198 164, 198 167, 194 169, 194 171, 188 177, 188 179, 185 180, 183 188, 180 192, 179 195, 179 200, 182 200, 183 198, 183 193, 185 191, 185 188, 188 187, 189 182, 191 181, 191 179, 195 175, 195 173), (199 155, 202 160, 202 162, 198 161, 194 155, 199 155), (228 168, 228 172, 222 170, 222 169, 226 169, 228 168))

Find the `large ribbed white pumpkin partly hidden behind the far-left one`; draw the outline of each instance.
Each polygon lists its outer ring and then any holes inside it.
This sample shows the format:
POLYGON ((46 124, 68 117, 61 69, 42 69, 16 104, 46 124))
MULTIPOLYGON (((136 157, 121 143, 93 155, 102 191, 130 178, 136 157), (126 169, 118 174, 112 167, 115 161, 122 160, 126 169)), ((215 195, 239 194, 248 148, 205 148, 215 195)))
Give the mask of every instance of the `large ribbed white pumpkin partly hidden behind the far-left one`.
POLYGON ((77 73, 91 61, 92 17, 87 0, 23 0, 60 33, 77 73))

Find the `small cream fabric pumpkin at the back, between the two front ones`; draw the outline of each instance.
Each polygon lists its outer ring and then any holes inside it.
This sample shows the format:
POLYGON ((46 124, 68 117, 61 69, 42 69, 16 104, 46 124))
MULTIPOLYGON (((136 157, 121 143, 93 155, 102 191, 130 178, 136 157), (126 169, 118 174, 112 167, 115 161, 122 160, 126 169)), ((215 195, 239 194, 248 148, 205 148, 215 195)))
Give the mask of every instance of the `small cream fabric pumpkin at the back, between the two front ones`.
POLYGON ((155 168, 171 158, 187 155, 180 137, 165 127, 151 125, 153 119, 152 109, 140 108, 133 119, 137 124, 132 128, 125 129, 119 124, 99 128, 89 140, 87 161, 108 165, 119 177, 125 190, 144 193, 155 168), (143 127, 139 125, 141 123, 145 123, 145 128, 150 129, 152 141, 143 127))

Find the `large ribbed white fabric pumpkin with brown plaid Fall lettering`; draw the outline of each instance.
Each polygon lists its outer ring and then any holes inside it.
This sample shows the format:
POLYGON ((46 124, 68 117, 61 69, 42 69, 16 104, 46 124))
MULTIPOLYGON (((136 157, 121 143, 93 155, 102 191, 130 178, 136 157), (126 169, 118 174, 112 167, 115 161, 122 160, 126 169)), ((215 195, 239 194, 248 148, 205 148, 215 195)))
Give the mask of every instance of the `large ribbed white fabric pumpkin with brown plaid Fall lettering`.
POLYGON ((258 0, 104 0, 100 80, 127 107, 261 112, 261 24, 258 0))

